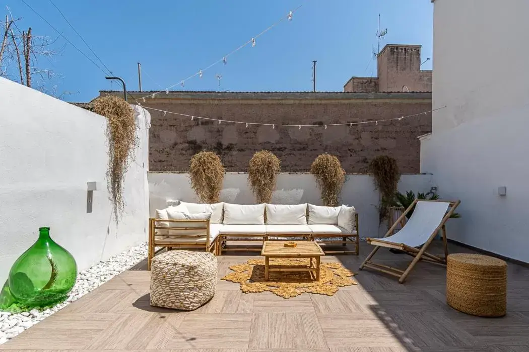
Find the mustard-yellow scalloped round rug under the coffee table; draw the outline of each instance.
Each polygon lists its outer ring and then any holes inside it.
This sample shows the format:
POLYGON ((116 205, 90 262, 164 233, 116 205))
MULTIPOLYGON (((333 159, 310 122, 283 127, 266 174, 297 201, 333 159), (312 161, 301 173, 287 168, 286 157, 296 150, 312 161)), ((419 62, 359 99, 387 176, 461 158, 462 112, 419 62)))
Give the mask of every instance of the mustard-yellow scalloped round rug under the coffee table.
MULTIPOLYGON (((270 259, 270 265, 308 265, 309 259, 270 259)), ((321 263, 320 281, 303 271, 271 271, 265 281, 265 261, 250 259, 244 264, 230 267, 233 272, 221 280, 238 282, 244 293, 269 291, 283 298, 296 297, 302 293, 317 293, 333 296, 339 287, 357 284, 354 275, 340 263, 321 263)))

